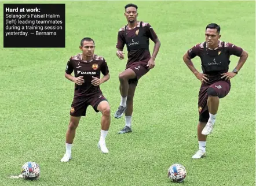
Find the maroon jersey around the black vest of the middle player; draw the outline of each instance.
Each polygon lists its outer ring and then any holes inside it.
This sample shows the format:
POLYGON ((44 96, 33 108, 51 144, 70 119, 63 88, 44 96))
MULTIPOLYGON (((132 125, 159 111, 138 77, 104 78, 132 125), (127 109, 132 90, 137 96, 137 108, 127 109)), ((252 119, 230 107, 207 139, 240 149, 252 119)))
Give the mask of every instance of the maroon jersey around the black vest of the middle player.
MULTIPOLYGON (((134 36, 138 35, 138 30, 140 28, 140 23, 142 21, 137 21, 137 27, 134 29, 127 29, 126 31, 126 37, 127 38, 133 38, 134 36)), ((126 25, 127 26, 127 25, 126 25)), ((150 38, 153 42, 158 38, 156 35, 155 31, 153 31, 153 28, 149 23, 144 23, 142 22, 142 31, 143 35, 147 37, 148 39, 150 38)), ((117 49, 123 50, 123 47, 127 43, 125 39, 125 26, 120 28, 118 31, 118 43, 116 44, 117 49)), ((145 62, 145 64, 148 64, 149 59, 151 58, 150 51, 147 49, 138 49, 134 51, 129 51, 128 52, 128 61, 127 61, 127 66, 133 64, 133 62, 145 62)))

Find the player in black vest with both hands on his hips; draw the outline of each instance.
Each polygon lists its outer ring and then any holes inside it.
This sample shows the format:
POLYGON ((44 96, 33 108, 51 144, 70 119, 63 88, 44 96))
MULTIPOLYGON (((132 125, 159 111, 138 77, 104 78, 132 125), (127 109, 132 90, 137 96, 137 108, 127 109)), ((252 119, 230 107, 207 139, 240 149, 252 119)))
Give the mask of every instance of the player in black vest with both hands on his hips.
POLYGON ((198 159, 206 155, 207 135, 213 130, 218 106, 221 98, 228 95, 231 90, 231 81, 246 62, 248 54, 235 44, 219 40, 221 28, 215 23, 206 27, 205 42, 196 44, 183 56, 183 60, 191 72, 202 84, 199 91, 198 110, 198 143, 199 150, 193 155, 198 159), (235 68, 229 72, 229 57, 236 55, 239 61, 235 68), (198 72, 191 59, 201 58, 203 73, 198 72))

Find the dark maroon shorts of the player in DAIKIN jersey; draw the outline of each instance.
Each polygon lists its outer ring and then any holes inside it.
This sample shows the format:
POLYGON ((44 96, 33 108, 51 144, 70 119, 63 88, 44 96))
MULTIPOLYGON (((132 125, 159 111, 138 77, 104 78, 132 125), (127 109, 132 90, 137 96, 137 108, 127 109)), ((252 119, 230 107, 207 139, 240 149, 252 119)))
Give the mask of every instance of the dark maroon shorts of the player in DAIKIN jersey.
POLYGON ((71 104, 70 115, 75 117, 86 116, 86 109, 89 105, 98 112, 98 104, 102 101, 107 101, 102 94, 96 94, 89 97, 74 97, 71 104))

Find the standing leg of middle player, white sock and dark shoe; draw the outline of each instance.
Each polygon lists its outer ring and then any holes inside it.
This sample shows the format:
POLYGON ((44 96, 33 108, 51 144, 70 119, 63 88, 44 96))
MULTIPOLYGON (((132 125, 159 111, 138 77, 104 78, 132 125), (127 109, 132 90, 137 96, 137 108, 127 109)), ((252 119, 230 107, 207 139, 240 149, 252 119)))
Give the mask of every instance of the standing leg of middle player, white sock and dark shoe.
POLYGON ((136 90, 137 84, 130 83, 129 90, 127 94, 127 109, 125 111, 125 127, 120 130, 118 133, 127 133, 131 132, 131 116, 133 114, 133 97, 136 90))

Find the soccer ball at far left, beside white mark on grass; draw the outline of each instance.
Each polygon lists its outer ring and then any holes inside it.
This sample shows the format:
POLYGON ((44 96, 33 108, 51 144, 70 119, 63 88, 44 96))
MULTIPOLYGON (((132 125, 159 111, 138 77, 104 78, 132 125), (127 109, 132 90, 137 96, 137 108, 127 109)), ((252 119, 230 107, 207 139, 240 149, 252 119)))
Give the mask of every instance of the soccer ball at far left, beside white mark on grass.
POLYGON ((21 175, 25 180, 37 180, 40 172, 40 167, 35 162, 27 162, 21 168, 21 175))

